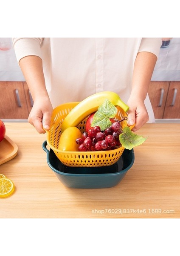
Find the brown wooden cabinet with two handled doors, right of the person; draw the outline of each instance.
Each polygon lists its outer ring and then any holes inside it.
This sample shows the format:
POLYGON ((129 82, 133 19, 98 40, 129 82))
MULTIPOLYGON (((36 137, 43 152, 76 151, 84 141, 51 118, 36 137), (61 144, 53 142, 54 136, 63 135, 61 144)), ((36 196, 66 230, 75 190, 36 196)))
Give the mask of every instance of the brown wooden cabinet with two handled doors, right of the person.
POLYGON ((151 81, 148 94, 155 119, 180 118, 180 81, 151 81))

